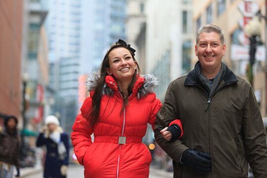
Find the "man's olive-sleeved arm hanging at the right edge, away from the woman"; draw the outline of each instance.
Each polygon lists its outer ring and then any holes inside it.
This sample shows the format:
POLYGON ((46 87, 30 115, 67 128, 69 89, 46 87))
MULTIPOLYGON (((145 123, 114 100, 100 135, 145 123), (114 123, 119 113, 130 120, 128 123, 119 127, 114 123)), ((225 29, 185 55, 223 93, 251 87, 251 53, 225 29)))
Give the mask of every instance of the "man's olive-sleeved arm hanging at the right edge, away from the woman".
POLYGON ((254 177, 267 178, 267 144, 263 119, 251 86, 248 92, 242 122, 245 154, 254 177))

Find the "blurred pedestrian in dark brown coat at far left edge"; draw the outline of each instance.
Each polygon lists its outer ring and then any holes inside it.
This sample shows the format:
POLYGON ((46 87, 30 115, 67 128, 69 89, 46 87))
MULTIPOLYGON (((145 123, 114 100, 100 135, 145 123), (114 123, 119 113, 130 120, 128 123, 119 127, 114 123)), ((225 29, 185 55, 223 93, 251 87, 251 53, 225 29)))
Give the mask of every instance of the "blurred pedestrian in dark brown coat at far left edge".
POLYGON ((14 167, 17 169, 16 177, 20 176, 20 137, 17 124, 15 116, 8 116, 4 121, 4 127, 0 127, 0 178, 12 178, 14 167))

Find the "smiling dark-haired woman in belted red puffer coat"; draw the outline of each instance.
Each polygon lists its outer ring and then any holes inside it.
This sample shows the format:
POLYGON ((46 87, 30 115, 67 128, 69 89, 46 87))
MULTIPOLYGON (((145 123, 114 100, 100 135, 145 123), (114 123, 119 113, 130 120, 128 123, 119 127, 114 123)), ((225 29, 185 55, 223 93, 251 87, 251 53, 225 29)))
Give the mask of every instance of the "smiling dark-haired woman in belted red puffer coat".
POLYGON ((87 81, 90 96, 71 134, 85 178, 148 178, 151 154, 142 137, 147 123, 154 129, 161 102, 152 91, 158 82, 139 75, 134 52, 119 40, 107 51, 99 77, 87 81))

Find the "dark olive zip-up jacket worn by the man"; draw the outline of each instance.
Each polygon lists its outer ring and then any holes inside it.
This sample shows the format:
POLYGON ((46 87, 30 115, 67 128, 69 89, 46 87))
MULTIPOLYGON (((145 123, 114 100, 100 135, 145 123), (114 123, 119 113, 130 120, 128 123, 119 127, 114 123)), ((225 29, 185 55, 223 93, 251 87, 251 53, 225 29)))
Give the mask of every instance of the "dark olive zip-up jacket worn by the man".
POLYGON ((267 178, 267 144, 262 116, 251 85, 226 67, 211 98, 194 70, 173 81, 157 114, 155 139, 173 158, 174 178, 267 178), (183 136, 166 141, 160 131, 180 119, 183 136), (186 149, 212 156, 212 171, 201 176, 180 163, 186 149))

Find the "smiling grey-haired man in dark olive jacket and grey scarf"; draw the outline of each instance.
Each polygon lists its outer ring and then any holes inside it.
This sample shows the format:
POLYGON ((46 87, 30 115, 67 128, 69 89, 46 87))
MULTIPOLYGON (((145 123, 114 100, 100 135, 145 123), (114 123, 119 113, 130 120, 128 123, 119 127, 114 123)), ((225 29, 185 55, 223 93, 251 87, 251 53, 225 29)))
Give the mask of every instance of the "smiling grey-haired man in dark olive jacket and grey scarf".
MULTIPOLYGON (((222 29, 203 25, 197 32, 198 62, 168 87, 157 114, 155 139, 173 158, 174 178, 267 178, 267 144, 251 85, 222 62, 222 29), (167 141, 162 130, 180 119, 183 136, 167 141)), ((168 128, 176 135, 177 128, 168 128)), ((165 132, 168 133, 168 132, 165 132)))

